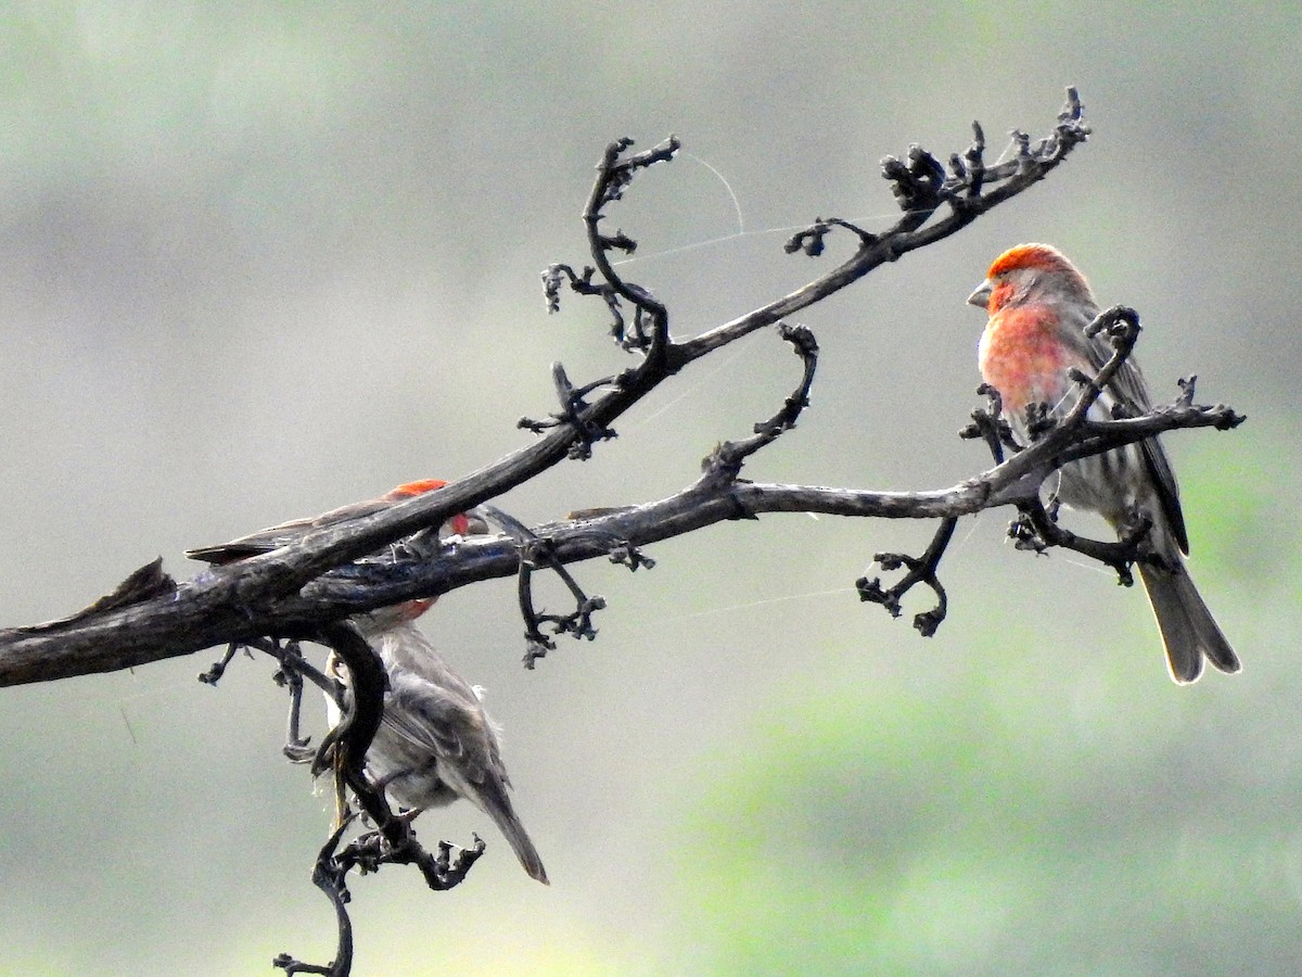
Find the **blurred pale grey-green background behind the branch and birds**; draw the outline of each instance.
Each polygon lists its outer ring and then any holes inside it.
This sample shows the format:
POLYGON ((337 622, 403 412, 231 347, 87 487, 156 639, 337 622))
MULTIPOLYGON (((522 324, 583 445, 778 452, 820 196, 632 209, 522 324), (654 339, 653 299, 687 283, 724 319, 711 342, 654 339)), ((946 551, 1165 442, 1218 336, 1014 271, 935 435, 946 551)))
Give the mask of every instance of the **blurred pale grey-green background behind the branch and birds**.
MULTIPOLYGON (((816 215, 893 220, 880 156, 962 150, 973 119, 997 155, 1078 85, 1095 135, 1048 181, 801 317, 812 406, 747 473, 986 468, 954 436, 963 298, 1053 242, 1141 311, 1159 399, 1197 371, 1250 418, 1168 444, 1243 673, 1172 685, 1139 590, 1012 551, 1004 512, 960 525, 930 641, 852 590, 921 524, 766 517, 652 547, 650 573, 579 567, 600 637, 534 672, 510 582, 457 591, 428 629, 488 689, 553 883, 467 805, 427 814, 422 838, 488 855, 449 894, 354 881, 357 973, 1295 972, 1302 17, 1137 7, 5 5, 0 623, 464 474, 530 440, 552 360, 628 365, 598 304, 548 317, 538 279, 585 262, 618 135, 684 139, 611 214, 690 335, 848 254, 783 254, 816 215)), ((503 504, 660 498, 796 378, 753 336, 503 504)), ((329 957, 327 801, 280 757, 271 664, 210 689, 214 654, 0 693, 0 972, 329 957)))

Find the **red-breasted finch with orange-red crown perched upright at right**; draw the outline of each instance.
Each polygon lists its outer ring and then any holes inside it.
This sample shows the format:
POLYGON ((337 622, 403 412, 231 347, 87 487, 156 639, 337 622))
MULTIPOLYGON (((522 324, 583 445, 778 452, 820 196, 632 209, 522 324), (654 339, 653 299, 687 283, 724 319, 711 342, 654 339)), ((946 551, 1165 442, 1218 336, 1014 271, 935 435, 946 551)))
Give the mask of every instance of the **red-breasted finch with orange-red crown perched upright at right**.
MULTIPOLYGON (((1070 409, 1070 395, 1078 387, 1068 376, 1069 369, 1096 374, 1112 356, 1105 339, 1085 335, 1099 314, 1088 283, 1048 245, 1004 251, 967 301, 990 311, 979 347, 982 376, 1000 392, 1009 421, 1022 436, 1029 405, 1048 404, 1057 416, 1070 409)), ((1133 357, 1094 404, 1091 417, 1112 417, 1113 405, 1129 414, 1152 409, 1133 357)), ((1194 681, 1204 657, 1223 672, 1240 670, 1234 650, 1185 569, 1189 539, 1180 492, 1157 438, 1064 465, 1053 487, 1062 503, 1096 512, 1118 533, 1141 515, 1152 521, 1148 539, 1157 560, 1141 563, 1139 578, 1167 646, 1172 679, 1194 681)))

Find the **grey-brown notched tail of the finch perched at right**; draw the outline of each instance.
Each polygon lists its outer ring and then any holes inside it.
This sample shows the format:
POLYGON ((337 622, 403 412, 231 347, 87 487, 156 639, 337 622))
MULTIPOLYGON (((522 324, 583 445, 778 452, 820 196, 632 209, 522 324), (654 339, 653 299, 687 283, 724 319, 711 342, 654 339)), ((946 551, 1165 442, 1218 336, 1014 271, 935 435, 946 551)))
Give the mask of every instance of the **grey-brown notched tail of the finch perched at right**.
POLYGON ((1139 578, 1148 591, 1148 603, 1167 646, 1172 679, 1182 685, 1194 681, 1203 671, 1203 658, 1223 672, 1240 670, 1238 655, 1182 563, 1174 569, 1141 564, 1139 578))

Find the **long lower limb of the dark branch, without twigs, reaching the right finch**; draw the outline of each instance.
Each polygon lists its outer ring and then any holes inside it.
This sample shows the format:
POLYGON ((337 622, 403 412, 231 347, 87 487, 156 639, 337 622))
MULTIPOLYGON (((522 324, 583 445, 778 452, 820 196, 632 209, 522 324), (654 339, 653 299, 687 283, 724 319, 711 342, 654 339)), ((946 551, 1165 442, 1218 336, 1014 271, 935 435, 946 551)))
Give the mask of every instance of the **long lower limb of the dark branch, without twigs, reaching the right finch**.
MULTIPOLYGON (((1082 431, 1088 453, 1098 453, 1165 431, 1189 427, 1224 430, 1241 421, 1241 416, 1224 405, 1174 404, 1144 417, 1088 421, 1082 425, 1082 431)), ((579 522, 540 525, 533 531, 548 541, 549 555, 556 563, 569 564, 609 556, 612 539, 644 547, 715 522, 734 520, 738 515, 966 516, 1036 498, 1044 479, 1086 452, 1085 444, 1072 440, 1064 429, 1059 429, 976 478, 923 492, 754 482, 737 482, 720 488, 712 487, 713 479, 703 475, 697 483, 660 502, 579 522)), ((423 561, 366 564, 333 571, 298 594, 267 599, 241 610, 214 607, 223 591, 206 580, 208 574, 201 574, 198 580, 182 585, 173 597, 154 598, 64 628, 0 632, 0 685, 115 671, 230 641, 247 644, 264 634, 310 636, 322 620, 441 594, 480 580, 516 576, 518 560, 514 542, 505 537, 467 539, 456 550, 445 547, 423 561)))

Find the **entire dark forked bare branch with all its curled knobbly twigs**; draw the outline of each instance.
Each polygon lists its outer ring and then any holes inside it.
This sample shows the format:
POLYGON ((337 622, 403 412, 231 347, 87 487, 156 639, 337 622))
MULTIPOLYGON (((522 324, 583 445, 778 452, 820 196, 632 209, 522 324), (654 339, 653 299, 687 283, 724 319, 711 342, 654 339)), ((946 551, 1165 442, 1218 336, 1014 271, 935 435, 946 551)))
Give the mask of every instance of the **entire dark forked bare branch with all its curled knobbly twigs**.
POLYGON ((641 172, 672 160, 678 141, 669 137, 633 154, 631 139, 612 142, 598 165, 582 215, 591 264, 581 271, 564 263, 548 267, 543 272, 543 289, 547 307, 553 313, 559 311, 566 289, 602 301, 611 315, 612 339, 637 358, 634 366, 617 375, 575 383, 562 363, 555 363, 552 382, 559 408, 543 419, 519 422, 536 440, 443 488, 393 502, 358 518, 324 524, 279 550, 212 567, 180 585, 163 573, 161 560, 155 560, 85 611, 57 621, 0 630, 0 685, 116 671, 225 645, 224 658, 201 676, 216 683, 241 647, 275 657, 280 663, 277 681, 290 693, 286 754, 297 761, 312 759, 316 774, 332 771, 340 797, 346 788, 374 826, 340 848, 353 819, 352 812, 341 810, 342 823, 316 858, 314 883, 336 912, 335 960, 318 965, 281 955, 275 965, 286 973, 342 976, 350 972, 353 951, 345 908, 349 871, 410 864, 431 888, 443 890, 458 885, 484 851, 479 839, 471 848, 458 849, 456 857, 454 847, 447 842, 439 844, 437 855, 424 851, 410 821, 395 815, 383 789, 367 779, 365 757, 380 723, 387 676, 375 651, 346 623, 348 616, 477 581, 516 576, 526 663, 533 666, 555 647, 556 634, 586 638, 596 634, 592 615, 604 607, 604 601, 589 595, 565 569, 568 564, 607 558, 630 571, 650 568, 655 561, 642 552, 646 546, 724 520, 758 520, 781 512, 939 520, 922 556, 875 558, 883 571, 905 571, 897 584, 885 588, 880 578, 867 577, 858 582, 865 601, 879 603, 893 615, 901 612, 901 601, 911 588, 919 584, 928 588, 936 604, 914 617, 914 625, 924 636, 935 632, 948 607, 939 565, 954 526, 962 516, 982 509, 1013 505, 1018 517, 1010 533, 1019 546, 1035 551, 1075 550, 1112 567, 1128 582, 1131 564, 1148 559, 1148 528, 1137 524, 1117 542, 1072 534, 1057 525, 1055 507, 1040 502, 1046 478, 1065 464, 1156 434, 1189 427, 1226 430, 1243 418, 1224 405, 1195 405, 1190 379, 1181 383, 1181 396, 1174 403, 1148 414, 1091 419, 1090 408, 1125 362, 1139 333, 1138 315, 1121 306, 1100 314, 1090 327, 1108 332, 1112 357, 1096 376, 1075 378, 1077 401, 1061 421, 1053 421, 1044 410, 1031 418, 1029 443, 1019 443, 1001 417, 999 392, 979 388, 978 393, 988 403, 973 412, 973 423, 962 431, 962 436, 982 439, 990 448, 993 468, 979 475, 947 488, 915 492, 763 483, 741 477, 758 452, 796 426, 810 403, 818 343, 807 328, 786 322, 788 317, 881 264, 962 229, 1043 180, 1088 134, 1081 100, 1069 89, 1052 130, 1034 142, 1016 132, 1016 154, 1006 163, 986 164, 986 139, 978 124, 973 125, 971 145, 952 154, 948 167, 919 146, 911 146, 902 159, 885 158, 881 175, 901 210, 893 224, 870 231, 841 218, 816 219, 786 242, 788 253, 819 257, 828 236, 844 232, 855 242, 846 261, 789 294, 685 340, 672 337, 668 307, 648 289, 624 277, 611 261, 612 253, 631 253, 637 242, 622 231, 605 231, 608 208, 622 199, 641 172), (747 436, 723 440, 703 461, 700 475, 681 491, 655 502, 538 526, 523 526, 487 504, 566 459, 590 457, 596 446, 617 436, 616 421, 661 383, 715 350, 771 326, 777 327, 779 336, 799 358, 798 380, 777 410, 755 423, 747 436), (439 541, 441 524, 474 507, 482 507, 505 531, 439 541), (548 614, 535 607, 533 577, 547 571, 565 582, 574 601, 573 611, 548 614), (303 659, 298 641, 332 649, 349 672, 346 693, 303 659), (342 710, 342 719, 315 750, 298 732, 305 677, 332 696, 342 710))

